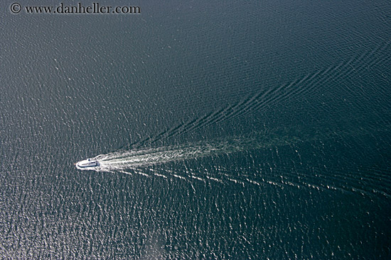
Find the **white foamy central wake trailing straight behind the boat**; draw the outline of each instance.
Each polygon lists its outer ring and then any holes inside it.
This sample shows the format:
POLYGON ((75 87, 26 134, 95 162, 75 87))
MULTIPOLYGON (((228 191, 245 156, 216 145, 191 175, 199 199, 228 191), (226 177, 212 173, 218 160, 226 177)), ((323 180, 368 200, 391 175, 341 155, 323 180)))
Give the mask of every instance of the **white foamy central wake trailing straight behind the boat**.
MULTIPOLYGON (((139 167, 176 162, 186 159, 198 159, 202 157, 218 156, 221 154, 231 154, 240 151, 249 151, 250 149, 261 149, 264 147, 278 147, 280 145, 292 145, 296 142, 314 141, 328 139, 340 135, 368 135, 376 131, 389 131, 386 129, 365 129, 357 128, 351 130, 338 130, 326 128, 323 126, 323 132, 315 133, 291 131, 282 134, 273 134, 274 131, 252 133, 250 137, 230 137, 225 140, 215 142, 197 142, 186 145, 173 145, 167 147, 155 147, 144 149, 133 149, 128 151, 110 152, 100 154, 92 158, 99 163, 96 167, 79 168, 81 170, 95 171, 124 171, 126 169, 136 170, 139 167), (282 137, 284 136, 284 137, 282 137)), ((144 168, 144 167, 143 167, 144 168)))

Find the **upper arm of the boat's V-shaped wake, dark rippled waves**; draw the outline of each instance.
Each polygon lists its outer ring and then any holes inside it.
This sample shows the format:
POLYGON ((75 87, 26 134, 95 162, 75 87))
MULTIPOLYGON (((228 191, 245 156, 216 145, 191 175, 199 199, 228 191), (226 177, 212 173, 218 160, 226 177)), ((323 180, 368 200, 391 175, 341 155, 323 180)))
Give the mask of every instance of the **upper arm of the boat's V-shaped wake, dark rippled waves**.
MULTIPOLYGON (((390 42, 382 43, 377 45, 375 49, 364 52, 346 62, 331 65, 326 69, 307 74, 304 77, 297 78, 277 88, 262 88, 256 94, 247 96, 247 98, 233 105, 220 108, 217 111, 211 111, 200 118, 194 118, 188 122, 178 124, 173 128, 164 130, 158 135, 134 142, 129 147, 137 148, 151 145, 159 140, 165 140, 170 137, 186 134, 187 132, 207 128, 222 121, 235 120, 236 118, 245 117, 252 113, 266 113, 270 108, 289 106, 299 101, 304 101, 311 96, 324 95, 328 92, 325 86, 331 82, 338 84, 338 80, 340 79, 352 77, 353 74, 359 76, 361 72, 372 67, 374 64, 387 62, 390 60, 390 55, 387 55, 387 52, 390 51, 390 42)), ((348 91, 353 90, 348 89, 348 91)))

